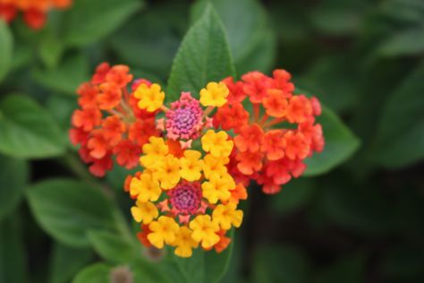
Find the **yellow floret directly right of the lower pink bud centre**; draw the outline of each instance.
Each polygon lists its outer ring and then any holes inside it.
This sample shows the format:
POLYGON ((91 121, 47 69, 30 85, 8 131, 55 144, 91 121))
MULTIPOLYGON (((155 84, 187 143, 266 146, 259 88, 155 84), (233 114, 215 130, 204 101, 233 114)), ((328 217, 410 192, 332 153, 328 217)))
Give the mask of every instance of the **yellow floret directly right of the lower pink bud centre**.
POLYGON ((226 173, 223 176, 213 174, 208 182, 201 184, 203 196, 210 203, 216 203, 218 200, 221 202, 228 201, 231 197, 230 191, 234 188, 233 177, 226 173))

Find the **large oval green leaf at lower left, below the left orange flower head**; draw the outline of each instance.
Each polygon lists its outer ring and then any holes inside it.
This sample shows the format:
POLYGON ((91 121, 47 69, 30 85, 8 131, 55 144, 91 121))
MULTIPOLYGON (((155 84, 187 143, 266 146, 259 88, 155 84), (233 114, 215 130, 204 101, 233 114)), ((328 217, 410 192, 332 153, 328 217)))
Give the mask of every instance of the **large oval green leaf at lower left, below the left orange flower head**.
POLYGON ((116 208, 105 193, 89 184, 51 179, 32 185, 27 192, 38 224, 61 243, 86 247, 89 230, 116 231, 116 208))

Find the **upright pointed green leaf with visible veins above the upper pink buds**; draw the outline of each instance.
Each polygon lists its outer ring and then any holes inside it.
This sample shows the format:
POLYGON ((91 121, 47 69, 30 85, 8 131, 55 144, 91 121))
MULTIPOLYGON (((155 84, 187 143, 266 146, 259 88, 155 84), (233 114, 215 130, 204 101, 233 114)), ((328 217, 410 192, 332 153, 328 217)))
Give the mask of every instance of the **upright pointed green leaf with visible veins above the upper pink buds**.
POLYGON ((181 91, 191 91, 197 97, 208 81, 221 81, 234 73, 223 24, 208 5, 201 19, 187 32, 174 58, 167 99, 177 99, 181 91))

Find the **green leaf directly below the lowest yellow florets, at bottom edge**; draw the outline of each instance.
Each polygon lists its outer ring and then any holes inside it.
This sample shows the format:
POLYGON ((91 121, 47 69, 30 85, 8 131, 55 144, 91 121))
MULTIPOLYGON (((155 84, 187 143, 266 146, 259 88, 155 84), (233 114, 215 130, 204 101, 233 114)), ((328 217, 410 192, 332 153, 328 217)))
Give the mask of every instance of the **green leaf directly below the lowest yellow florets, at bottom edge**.
MULTIPOLYGON (((231 236, 233 237, 233 230, 231 236)), ((193 250, 190 258, 174 258, 186 282, 219 282, 225 275, 233 253, 233 243, 222 253, 205 252, 202 249, 193 250)))

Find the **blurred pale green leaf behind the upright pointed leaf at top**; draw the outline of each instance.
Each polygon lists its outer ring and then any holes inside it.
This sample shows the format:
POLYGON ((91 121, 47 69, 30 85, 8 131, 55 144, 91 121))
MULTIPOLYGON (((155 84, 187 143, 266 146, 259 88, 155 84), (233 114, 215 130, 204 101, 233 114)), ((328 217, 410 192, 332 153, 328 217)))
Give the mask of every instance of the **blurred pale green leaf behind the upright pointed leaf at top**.
POLYGON ((192 21, 199 19, 208 3, 214 5, 224 23, 237 72, 269 72, 276 56, 276 32, 259 1, 198 1, 191 9, 192 21))

